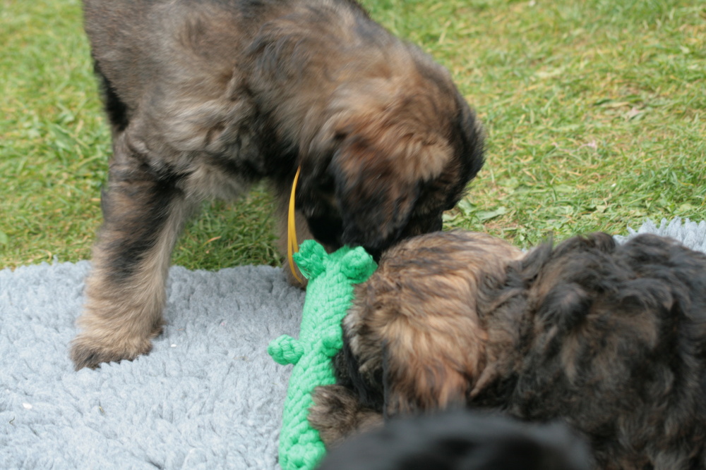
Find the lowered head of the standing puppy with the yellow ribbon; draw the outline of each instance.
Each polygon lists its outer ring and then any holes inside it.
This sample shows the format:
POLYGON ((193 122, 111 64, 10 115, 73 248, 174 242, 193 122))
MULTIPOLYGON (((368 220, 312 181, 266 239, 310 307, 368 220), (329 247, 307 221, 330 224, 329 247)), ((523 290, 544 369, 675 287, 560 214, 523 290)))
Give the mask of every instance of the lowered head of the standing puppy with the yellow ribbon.
POLYGON ((417 48, 361 54, 351 68, 368 76, 337 77, 312 124, 297 202, 318 240, 379 253, 441 230, 482 166, 483 135, 448 71, 417 48))

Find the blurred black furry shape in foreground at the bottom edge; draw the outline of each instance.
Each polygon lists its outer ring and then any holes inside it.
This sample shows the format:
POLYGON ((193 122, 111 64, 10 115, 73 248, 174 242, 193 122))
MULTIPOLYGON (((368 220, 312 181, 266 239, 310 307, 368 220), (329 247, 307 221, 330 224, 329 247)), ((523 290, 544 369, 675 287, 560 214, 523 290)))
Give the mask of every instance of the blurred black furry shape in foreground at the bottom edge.
POLYGON ((330 452, 319 470, 588 470, 566 426, 464 411, 393 419, 330 452))

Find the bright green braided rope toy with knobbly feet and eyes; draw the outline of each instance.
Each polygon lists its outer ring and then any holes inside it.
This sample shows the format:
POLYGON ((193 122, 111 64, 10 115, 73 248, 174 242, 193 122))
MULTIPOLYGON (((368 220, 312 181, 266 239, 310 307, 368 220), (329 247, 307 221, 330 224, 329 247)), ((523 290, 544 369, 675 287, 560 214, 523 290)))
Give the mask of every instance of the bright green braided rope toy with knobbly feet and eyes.
POLYGON ((309 279, 299 340, 282 335, 270 342, 268 354, 279 364, 294 364, 282 414, 280 466, 309 470, 325 454, 318 431, 306 419, 313 405, 311 392, 318 385, 335 383, 331 358, 343 346, 341 321, 353 299, 354 284, 364 282, 377 266, 361 247, 327 254, 313 240, 301 244, 294 260, 309 279))

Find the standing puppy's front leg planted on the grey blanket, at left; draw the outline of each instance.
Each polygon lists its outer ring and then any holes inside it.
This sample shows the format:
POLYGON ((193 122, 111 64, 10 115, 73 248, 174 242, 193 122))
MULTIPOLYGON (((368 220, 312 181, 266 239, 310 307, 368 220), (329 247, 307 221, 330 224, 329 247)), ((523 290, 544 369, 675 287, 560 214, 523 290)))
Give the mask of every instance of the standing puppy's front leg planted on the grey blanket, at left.
POLYGON ((150 338, 162 331, 169 259, 192 206, 177 178, 162 174, 116 144, 78 319, 81 332, 71 346, 77 370, 135 359, 150 351, 150 338))

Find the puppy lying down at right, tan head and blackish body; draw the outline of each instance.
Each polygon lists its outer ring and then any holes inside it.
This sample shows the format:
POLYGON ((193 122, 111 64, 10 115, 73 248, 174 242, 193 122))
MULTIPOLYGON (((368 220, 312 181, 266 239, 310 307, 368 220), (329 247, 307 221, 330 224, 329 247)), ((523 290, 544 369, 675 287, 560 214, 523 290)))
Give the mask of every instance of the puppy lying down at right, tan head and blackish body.
POLYGON ((596 469, 706 469, 706 255, 673 240, 595 233, 518 259, 422 235, 383 256, 344 328, 340 385, 310 418, 330 443, 375 413, 465 404, 562 419, 596 469))

